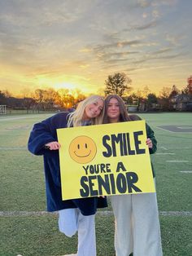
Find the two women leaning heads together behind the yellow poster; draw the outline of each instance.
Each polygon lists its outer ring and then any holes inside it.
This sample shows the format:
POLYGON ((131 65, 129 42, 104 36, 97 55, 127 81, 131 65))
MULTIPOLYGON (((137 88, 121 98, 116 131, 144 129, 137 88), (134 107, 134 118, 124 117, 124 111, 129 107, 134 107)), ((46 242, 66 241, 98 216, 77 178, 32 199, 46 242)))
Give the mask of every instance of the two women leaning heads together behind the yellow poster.
MULTIPOLYGON (((47 210, 59 211, 59 230, 67 236, 78 232, 77 256, 96 256, 94 214, 97 207, 107 206, 105 198, 89 197, 62 201, 59 174, 59 152, 56 129, 71 126, 89 126, 102 123, 133 121, 123 100, 109 95, 104 102, 99 96, 82 101, 76 111, 59 113, 34 125, 28 140, 28 149, 43 155, 46 175, 47 210)), ((136 116, 137 117, 137 116, 136 116)), ((153 130, 146 125, 146 143, 150 153, 156 151, 153 130)), ((116 218, 116 256, 161 256, 159 214, 155 193, 111 196, 116 218)), ((75 254, 73 254, 75 255, 75 254)), ((109 255, 107 255, 109 256, 109 255)))

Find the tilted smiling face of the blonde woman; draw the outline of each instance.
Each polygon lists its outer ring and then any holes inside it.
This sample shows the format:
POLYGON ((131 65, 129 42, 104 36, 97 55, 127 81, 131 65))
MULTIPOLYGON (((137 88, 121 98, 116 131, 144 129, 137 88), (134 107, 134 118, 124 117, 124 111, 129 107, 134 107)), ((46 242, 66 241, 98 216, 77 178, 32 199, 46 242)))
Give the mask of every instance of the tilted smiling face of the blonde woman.
POLYGON ((85 108, 85 119, 98 117, 103 111, 103 99, 97 99, 94 103, 89 104, 85 108))

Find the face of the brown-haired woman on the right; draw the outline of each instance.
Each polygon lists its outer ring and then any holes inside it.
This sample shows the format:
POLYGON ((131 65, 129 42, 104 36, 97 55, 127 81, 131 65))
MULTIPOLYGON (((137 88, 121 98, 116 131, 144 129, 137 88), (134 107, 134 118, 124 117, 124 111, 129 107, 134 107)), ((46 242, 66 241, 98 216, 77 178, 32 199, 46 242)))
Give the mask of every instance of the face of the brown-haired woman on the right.
POLYGON ((116 98, 111 98, 107 105, 107 117, 110 121, 120 120, 120 104, 116 98))

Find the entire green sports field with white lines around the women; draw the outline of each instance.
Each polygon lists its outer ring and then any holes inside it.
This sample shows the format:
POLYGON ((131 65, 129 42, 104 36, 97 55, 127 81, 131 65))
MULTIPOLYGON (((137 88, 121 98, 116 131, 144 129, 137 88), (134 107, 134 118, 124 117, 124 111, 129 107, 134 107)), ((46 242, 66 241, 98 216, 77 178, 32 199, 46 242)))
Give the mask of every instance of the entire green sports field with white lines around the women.
MULTIPOLYGON (((76 252, 76 236, 62 235, 56 214, 46 210, 41 157, 27 150, 35 122, 50 114, 0 116, 0 255, 54 256, 76 252)), ((192 255, 192 132, 158 126, 192 126, 191 113, 140 115, 155 130, 155 166, 164 256, 192 255)), ((104 211, 111 211, 111 206, 104 211)), ((96 215, 98 256, 113 256, 112 214, 96 215)), ((91 256, 91 255, 90 255, 91 256)), ((143 255, 147 256, 147 255, 143 255)), ((155 256, 155 255, 154 255, 155 256)))

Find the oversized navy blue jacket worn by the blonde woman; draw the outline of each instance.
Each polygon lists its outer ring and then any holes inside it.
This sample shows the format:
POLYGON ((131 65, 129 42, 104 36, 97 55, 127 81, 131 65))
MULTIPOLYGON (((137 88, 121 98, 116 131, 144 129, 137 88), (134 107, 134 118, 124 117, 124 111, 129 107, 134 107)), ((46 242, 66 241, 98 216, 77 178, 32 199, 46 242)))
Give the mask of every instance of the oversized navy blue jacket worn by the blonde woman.
POLYGON ((102 197, 88 197, 74 200, 62 200, 59 169, 59 151, 45 148, 46 143, 57 141, 56 129, 66 128, 68 113, 58 113, 33 126, 28 139, 28 150, 34 155, 43 155, 46 177, 47 210, 63 210, 79 208, 81 214, 95 214, 97 208, 107 207, 107 199, 102 197))

